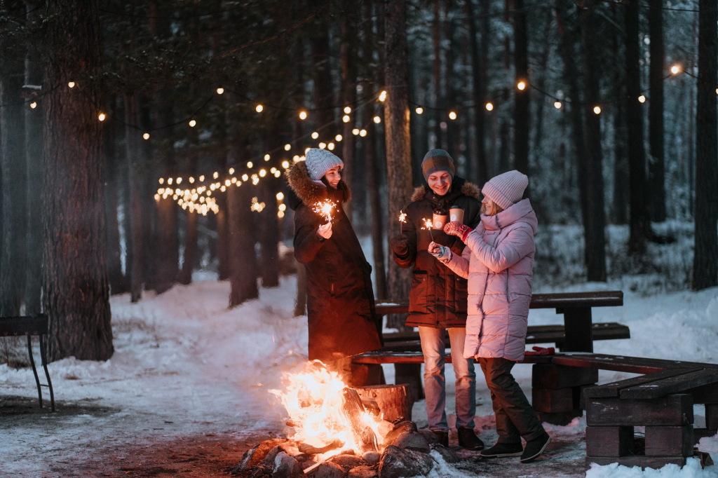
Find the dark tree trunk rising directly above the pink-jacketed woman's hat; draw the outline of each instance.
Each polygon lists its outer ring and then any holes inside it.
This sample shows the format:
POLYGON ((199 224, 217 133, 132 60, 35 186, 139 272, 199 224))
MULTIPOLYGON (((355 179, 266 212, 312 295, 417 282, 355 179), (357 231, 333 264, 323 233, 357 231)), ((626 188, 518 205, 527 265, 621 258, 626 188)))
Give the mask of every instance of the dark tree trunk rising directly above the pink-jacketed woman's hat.
POLYGON ((513 169, 528 175, 528 32, 526 31, 526 11, 523 0, 514 0, 513 14, 513 61, 516 70, 516 85, 520 81, 526 85, 519 90, 514 85, 513 103, 513 169))

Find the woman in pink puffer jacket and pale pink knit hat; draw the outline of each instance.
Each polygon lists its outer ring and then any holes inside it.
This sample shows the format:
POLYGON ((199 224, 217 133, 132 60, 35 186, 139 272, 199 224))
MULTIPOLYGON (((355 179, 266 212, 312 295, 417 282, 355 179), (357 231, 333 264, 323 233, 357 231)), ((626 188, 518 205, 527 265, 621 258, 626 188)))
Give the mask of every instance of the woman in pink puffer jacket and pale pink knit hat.
POLYGON ((444 232, 467 245, 461 256, 441 245, 429 245, 439 261, 469 280, 464 356, 475 357, 481 365, 499 436, 481 456, 521 456, 523 463, 535 460, 551 442, 511 375, 526 347, 536 252, 536 214, 528 199, 521 200, 526 186, 528 178, 518 171, 500 174, 482 189, 484 211, 475 230, 460 222, 446 225, 444 232), (522 436, 526 449, 521 446, 522 436))

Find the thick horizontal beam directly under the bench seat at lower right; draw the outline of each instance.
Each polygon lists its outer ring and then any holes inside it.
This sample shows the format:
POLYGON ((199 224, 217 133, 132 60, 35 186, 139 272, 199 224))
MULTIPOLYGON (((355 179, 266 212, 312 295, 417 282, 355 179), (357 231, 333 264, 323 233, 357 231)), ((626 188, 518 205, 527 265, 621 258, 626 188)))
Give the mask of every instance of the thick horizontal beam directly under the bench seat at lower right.
POLYGON ((652 400, 589 398, 588 426, 683 426, 693 424, 693 398, 678 394, 652 400))

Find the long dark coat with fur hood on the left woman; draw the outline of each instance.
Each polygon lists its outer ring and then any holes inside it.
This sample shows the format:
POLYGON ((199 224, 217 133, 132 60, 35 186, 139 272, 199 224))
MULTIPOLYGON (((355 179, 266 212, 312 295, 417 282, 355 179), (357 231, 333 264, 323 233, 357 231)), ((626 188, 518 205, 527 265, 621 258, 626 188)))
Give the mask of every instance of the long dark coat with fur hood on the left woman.
POLYGON ((307 270, 309 360, 327 362, 381 348, 371 266, 340 205, 349 200, 349 189, 343 181, 337 189, 313 182, 304 161, 295 163, 286 178, 291 189, 287 204, 294 209, 294 257, 307 270), (326 220, 312 207, 327 199, 337 207, 332 237, 322 239, 317 228, 326 220))

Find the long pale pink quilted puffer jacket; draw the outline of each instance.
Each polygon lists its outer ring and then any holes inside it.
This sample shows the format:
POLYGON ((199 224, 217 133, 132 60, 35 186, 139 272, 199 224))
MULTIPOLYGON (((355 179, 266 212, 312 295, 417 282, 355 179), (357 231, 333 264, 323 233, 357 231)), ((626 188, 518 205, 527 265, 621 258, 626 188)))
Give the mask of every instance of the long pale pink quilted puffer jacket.
POLYGON ((538 220, 528 199, 481 222, 447 266, 469 279, 464 357, 523 360, 538 220))

